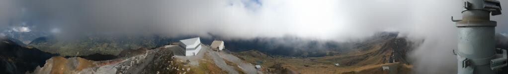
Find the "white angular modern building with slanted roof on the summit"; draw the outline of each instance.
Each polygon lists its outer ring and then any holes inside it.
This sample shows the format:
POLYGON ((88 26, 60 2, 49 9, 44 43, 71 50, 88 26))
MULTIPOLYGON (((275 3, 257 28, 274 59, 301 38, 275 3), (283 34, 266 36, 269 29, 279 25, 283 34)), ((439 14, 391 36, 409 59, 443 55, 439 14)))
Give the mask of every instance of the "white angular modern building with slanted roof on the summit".
POLYGON ((185 56, 196 55, 201 50, 201 40, 199 37, 180 40, 179 44, 182 48, 184 48, 185 56))

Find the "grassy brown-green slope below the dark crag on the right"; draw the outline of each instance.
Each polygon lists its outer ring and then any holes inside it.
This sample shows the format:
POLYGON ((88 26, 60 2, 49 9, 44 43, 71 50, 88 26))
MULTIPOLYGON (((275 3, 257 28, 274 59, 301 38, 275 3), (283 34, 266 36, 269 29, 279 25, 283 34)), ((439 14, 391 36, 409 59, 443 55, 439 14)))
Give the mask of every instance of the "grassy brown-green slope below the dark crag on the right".
MULTIPOLYGON (((409 73, 411 65, 388 62, 394 48, 393 41, 396 40, 399 39, 388 38, 366 42, 353 51, 324 57, 271 57, 256 50, 238 52, 235 55, 242 60, 267 67, 281 63, 283 68, 289 69, 283 73, 377 73, 383 72, 383 70, 378 70, 382 65, 400 65, 401 72, 399 73, 409 73), (339 63, 340 66, 335 66, 334 63, 339 63)), ((270 69, 273 72, 283 68, 270 69)))

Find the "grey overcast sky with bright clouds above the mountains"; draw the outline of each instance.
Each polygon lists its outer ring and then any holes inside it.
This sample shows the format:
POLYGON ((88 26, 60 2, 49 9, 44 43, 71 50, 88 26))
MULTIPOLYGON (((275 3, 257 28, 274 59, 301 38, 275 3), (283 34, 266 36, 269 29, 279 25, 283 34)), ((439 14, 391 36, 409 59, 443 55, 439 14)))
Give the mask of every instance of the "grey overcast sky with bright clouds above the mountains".
MULTIPOLYGON (((508 2, 501 1, 503 4, 508 2)), ((85 34, 209 34, 225 38, 282 37, 344 41, 379 31, 426 39, 410 54, 416 71, 455 70, 461 0, 0 0, 0 31, 85 34), (443 66, 444 67, 437 67, 443 66), (444 68, 444 69, 443 69, 444 68)), ((503 10, 502 12, 506 12, 503 10)), ((507 15, 493 16, 508 32, 507 15)), ((454 72, 454 71, 453 71, 454 72)))

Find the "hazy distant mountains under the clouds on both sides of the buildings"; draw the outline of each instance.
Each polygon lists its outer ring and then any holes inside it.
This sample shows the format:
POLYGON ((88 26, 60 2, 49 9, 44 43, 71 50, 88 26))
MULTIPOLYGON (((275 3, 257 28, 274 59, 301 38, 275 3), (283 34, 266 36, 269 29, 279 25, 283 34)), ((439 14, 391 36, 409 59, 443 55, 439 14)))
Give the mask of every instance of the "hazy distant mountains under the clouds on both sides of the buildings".
MULTIPOLYGON (((371 41, 383 37, 396 37, 398 32, 379 32, 370 37, 371 41)), ((43 51, 59 53, 67 56, 90 55, 94 53, 118 55, 125 49, 154 48, 177 42, 181 39, 197 36, 182 36, 168 38, 162 36, 84 36, 72 40, 61 40, 54 36, 40 37, 31 41, 29 46, 34 46, 43 51)), ((221 38, 202 37, 203 44, 210 44, 213 40, 221 38)), ((280 38, 257 37, 253 39, 224 40, 227 50, 239 52, 256 49, 270 55, 319 57, 345 52, 354 48, 358 42, 335 42, 320 41, 299 38, 296 36, 284 36, 280 38)))

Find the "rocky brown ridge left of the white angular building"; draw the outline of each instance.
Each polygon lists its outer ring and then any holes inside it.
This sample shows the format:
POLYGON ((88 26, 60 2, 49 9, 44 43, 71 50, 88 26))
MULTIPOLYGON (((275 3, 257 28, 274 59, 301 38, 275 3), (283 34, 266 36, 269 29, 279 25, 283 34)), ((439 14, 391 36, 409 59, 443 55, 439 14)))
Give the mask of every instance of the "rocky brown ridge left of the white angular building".
POLYGON ((48 59, 47 66, 35 73, 182 73, 182 62, 176 61, 171 50, 153 49, 143 54, 112 60, 93 61, 80 57, 48 59))

